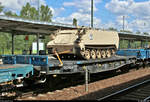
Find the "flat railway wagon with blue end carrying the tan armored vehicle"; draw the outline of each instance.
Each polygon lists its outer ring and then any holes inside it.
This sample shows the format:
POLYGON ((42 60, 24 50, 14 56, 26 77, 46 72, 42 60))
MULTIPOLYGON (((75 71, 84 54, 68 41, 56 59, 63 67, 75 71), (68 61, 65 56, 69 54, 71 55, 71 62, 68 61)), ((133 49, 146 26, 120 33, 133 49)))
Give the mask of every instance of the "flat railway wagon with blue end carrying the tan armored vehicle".
MULTIPOLYGON (((18 64, 22 64, 18 60, 18 58, 21 60, 24 60, 26 57, 27 59, 30 59, 30 63, 34 66, 34 69, 40 70, 40 72, 46 73, 46 74, 73 74, 73 73, 83 73, 84 72, 84 66, 87 66, 89 68, 90 73, 98 73, 98 72, 104 72, 104 71, 110 71, 120 68, 121 66, 125 66, 131 63, 135 62, 135 57, 129 56, 129 57, 117 57, 113 56, 108 59, 101 59, 101 60, 62 60, 63 65, 59 62, 57 59, 49 59, 48 56, 41 56, 41 55, 7 55, 3 56, 3 60, 5 62, 5 59, 8 59, 7 57, 15 57, 12 59, 16 61, 9 61, 9 62, 16 62, 18 64), (20 57, 19 57, 20 56, 20 57), (39 66, 39 67, 36 67, 39 66)), ((28 61, 27 61, 28 62, 28 61)))

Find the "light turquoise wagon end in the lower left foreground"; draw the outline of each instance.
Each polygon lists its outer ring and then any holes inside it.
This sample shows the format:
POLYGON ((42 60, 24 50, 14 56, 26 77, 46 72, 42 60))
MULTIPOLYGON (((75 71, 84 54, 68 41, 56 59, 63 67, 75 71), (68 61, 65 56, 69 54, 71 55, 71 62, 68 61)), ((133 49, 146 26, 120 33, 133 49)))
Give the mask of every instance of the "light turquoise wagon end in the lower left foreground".
POLYGON ((26 78, 29 75, 33 75, 33 65, 0 65, 0 83, 12 81, 18 78, 26 78))

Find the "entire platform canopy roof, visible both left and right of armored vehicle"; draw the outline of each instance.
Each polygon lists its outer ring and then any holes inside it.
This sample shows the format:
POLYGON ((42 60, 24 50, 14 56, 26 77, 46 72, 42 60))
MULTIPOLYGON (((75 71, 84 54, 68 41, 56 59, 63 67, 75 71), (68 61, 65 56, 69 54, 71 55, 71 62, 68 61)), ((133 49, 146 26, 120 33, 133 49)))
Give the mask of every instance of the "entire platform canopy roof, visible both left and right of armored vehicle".
MULTIPOLYGON (((37 33, 42 35, 49 35, 57 30, 69 29, 77 29, 77 27, 71 24, 43 22, 8 16, 0 16, 0 32, 8 32, 15 35, 31 35, 37 33)), ((118 33, 120 39, 150 41, 150 35, 133 34, 127 32, 118 33)))

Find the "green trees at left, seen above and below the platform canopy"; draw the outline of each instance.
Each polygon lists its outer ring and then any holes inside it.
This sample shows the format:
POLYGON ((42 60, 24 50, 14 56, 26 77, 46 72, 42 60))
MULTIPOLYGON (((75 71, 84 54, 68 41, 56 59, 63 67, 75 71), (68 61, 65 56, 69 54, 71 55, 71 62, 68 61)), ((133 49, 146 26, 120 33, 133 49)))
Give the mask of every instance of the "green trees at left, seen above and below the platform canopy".
MULTIPOLYGON (((3 6, 0 5, 0 12, 3 11, 3 6)), ((38 14, 38 10, 35 7, 32 7, 29 3, 22 7, 20 11, 20 15, 13 13, 11 11, 5 11, 4 14, 6 16, 11 17, 21 17, 30 20, 38 20, 40 15, 41 21, 51 22, 52 18, 52 11, 48 6, 41 5, 40 7, 40 14, 38 14)), ((43 42, 47 43, 49 41, 49 36, 45 37, 46 39, 43 42)), ((29 50, 32 42, 36 41, 35 35, 29 35, 29 40, 25 41, 25 35, 17 35, 14 38, 14 47, 15 47, 15 54, 22 54, 23 50, 29 50)), ((11 54, 11 34, 2 33, 0 32, 0 54, 11 54)))

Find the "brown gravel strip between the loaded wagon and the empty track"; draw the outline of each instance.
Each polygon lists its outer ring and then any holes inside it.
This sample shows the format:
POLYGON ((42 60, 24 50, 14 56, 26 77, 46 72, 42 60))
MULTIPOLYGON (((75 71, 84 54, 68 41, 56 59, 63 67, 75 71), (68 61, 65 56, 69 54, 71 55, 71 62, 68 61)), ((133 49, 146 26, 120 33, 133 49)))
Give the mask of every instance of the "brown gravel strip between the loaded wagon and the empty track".
POLYGON ((90 83, 88 92, 85 92, 85 85, 78 85, 18 100, 95 100, 148 78, 150 68, 144 68, 90 83))

